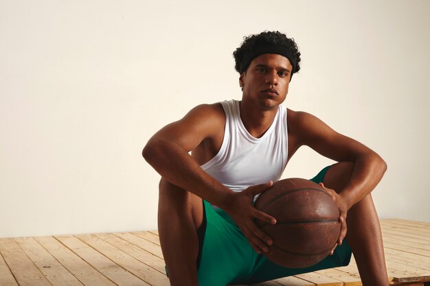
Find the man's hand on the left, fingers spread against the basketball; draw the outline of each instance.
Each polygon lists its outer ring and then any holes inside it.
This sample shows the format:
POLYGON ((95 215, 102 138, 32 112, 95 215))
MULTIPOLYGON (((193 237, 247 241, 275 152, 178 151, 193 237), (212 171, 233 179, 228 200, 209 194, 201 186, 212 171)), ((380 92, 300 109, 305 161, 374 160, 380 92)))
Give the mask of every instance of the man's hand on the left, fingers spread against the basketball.
POLYGON ((258 254, 267 252, 268 246, 273 244, 272 239, 266 235, 254 222, 255 219, 260 219, 268 224, 276 224, 276 219, 258 211, 253 206, 253 198, 258 194, 266 191, 272 186, 273 182, 266 184, 257 184, 251 186, 244 191, 232 193, 229 202, 224 211, 236 222, 242 233, 248 239, 249 244, 256 250, 258 254))

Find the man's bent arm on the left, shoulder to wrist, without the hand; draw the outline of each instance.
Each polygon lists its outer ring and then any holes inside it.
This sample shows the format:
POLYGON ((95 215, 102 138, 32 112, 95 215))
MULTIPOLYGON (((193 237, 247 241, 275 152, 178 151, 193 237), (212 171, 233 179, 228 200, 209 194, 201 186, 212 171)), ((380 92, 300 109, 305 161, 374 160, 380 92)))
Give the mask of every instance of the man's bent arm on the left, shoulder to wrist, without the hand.
POLYGON ((202 105, 183 119, 170 123, 148 141, 142 155, 168 182, 223 208, 230 189, 209 176, 188 152, 202 141, 223 132, 225 115, 220 106, 202 105))

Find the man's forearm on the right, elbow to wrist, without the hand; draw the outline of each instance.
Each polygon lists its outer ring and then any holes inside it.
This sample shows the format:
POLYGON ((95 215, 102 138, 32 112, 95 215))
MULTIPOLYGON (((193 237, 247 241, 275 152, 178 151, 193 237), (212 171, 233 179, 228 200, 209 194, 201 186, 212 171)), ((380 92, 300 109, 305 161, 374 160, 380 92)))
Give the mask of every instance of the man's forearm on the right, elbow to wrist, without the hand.
POLYGON ((387 164, 374 152, 358 156, 354 161, 354 171, 341 197, 347 202, 348 209, 362 200, 381 181, 387 164))

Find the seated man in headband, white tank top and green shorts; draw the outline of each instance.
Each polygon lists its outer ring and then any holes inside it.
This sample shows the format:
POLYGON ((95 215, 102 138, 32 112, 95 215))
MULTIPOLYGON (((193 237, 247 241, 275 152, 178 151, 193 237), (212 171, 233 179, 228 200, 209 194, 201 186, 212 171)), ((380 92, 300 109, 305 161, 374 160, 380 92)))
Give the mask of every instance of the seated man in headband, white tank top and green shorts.
POLYGON ((384 160, 313 115, 280 105, 299 71, 293 39, 280 32, 251 35, 234 58, 242 100, 193 108, 152 136, 142 152, 162 177, 158 227, 171 285, 258 283, 348 265, 351 250, 363 285, 388 285, 370 195, 387 168, 384 160), (313 180, 335 200, 341 233, 321 263, 286 269, 263 255, 273 241, 255 219, 275 219, 256 210, 253 200, 280 179, 302 145, 339 162, 313 180))

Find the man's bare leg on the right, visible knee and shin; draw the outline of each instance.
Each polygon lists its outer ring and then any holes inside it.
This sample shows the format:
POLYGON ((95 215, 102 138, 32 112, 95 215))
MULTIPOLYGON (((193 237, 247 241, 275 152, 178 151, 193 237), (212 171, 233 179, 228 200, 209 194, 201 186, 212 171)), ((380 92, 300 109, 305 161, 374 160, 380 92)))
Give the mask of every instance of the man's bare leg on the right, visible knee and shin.
MULTIPOLYGON (((324 185, 337 192, 341 191, 353 168, 354 165, 347 162, 333 165, 324 177, 324 185)), ((350 208, 346 222, 346 240, 354 253, 363 285, 389 285, 381 226, 370 194, 350 208)))

